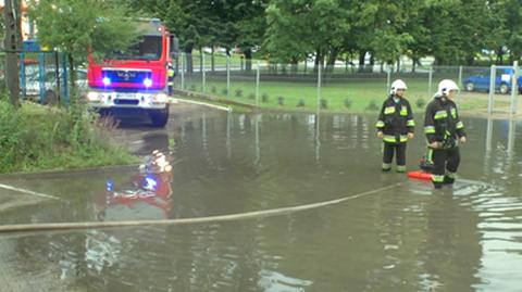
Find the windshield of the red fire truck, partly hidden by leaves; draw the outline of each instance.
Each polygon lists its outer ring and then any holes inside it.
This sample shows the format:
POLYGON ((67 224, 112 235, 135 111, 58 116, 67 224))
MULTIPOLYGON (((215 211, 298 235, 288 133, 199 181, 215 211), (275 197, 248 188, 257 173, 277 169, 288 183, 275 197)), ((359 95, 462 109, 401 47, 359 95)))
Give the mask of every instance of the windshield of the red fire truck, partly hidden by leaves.
POLYGON ((144 60, 158 61, 161 58, 161 36, 144 36, 125 50, 107 52, 105 60, 144 60))

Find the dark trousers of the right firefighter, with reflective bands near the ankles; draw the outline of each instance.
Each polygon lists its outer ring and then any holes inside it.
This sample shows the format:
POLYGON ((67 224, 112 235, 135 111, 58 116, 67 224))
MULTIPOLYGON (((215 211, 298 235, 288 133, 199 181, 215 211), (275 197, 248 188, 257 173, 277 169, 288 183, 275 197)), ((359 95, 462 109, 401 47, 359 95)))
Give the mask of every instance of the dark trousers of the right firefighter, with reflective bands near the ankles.
POLYGON ((435 187, 439 187, 448 179, 452 182, 455 174, 460 164, 460 151, 458 147, 450 149, 434 149, 432 154, 433 170, 432 181, 435 187))

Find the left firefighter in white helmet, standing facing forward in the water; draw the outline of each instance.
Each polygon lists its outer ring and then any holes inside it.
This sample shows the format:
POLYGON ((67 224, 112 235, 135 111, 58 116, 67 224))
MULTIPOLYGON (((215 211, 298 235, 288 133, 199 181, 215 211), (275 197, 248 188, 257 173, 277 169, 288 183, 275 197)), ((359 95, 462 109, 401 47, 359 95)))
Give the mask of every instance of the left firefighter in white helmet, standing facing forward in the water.
POLYGON ((413 139, 415 122, 410 103, 403 97, 407 87, 397 79, 391 82, 389 97, 384 101, 378 115, 377 137, 383 139, 383 172, 391 169, 394 152, 396 153, 397 172, 406 172, 406 143, 413 139))

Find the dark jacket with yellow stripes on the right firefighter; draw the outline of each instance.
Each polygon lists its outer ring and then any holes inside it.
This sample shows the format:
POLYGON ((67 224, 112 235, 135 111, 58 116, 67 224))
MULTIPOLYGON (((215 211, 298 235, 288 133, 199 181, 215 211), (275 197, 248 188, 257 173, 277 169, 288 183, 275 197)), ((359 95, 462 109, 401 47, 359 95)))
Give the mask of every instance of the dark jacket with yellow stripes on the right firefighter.
POLYGON ((457 145, 458 138, 465 136, 457 105, 444 97, 435 97, 426 106, 424 132, 428 143, 443 143, 443 149, 457 145))

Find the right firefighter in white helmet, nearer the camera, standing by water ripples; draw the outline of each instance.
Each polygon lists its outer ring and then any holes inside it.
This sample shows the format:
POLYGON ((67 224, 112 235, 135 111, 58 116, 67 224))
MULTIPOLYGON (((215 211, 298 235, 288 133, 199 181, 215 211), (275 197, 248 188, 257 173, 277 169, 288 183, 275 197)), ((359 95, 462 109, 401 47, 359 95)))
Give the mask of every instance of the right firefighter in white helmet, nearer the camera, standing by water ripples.
POLYGON ((464 124, 453 102, 457 84, 444 79, 434 99, 426 106, 424 132, 433 161, 432 181, 435 189, 453 183, 460 163, 459 142, 465 143, 464 124))

